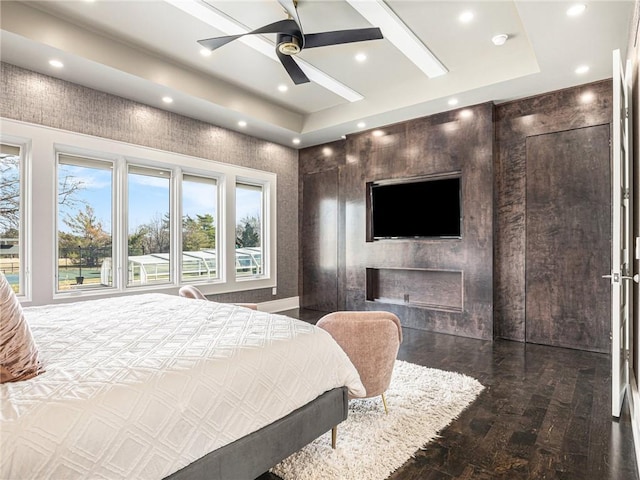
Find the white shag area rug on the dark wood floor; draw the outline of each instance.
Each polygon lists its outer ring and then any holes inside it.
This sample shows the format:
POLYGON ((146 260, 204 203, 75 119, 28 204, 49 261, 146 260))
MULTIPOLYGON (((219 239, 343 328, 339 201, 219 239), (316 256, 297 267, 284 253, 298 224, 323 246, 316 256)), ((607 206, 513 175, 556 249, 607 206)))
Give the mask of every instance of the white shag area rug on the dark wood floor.
POLYGON ((382 399, 354 399, 338 426, 337 448, 331 432, 271 469, 285 480, 382 480, 436 438, 483 390, 475 379, 396 360, 382 399))

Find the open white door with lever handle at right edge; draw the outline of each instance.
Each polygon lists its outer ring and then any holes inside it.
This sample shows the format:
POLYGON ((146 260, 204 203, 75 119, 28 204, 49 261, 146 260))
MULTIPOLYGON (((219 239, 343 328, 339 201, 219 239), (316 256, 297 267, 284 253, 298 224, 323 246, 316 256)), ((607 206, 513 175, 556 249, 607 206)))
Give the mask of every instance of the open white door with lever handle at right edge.
MULTIPOLYGON (((630 74, 630 69, 627 68, 630 74)), ((632 172, 630 82, 620 50, 613 52, 612 240, 611 240, 611 413, 619 417, 629 385, 629 322, 633 302, 632 172)))

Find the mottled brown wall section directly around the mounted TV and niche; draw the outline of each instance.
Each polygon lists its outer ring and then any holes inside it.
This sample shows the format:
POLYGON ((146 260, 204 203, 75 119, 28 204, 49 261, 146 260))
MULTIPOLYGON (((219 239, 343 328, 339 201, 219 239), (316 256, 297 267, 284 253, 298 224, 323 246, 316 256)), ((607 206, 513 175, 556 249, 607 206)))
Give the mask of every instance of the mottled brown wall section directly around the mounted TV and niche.
MULTIPOLYGON (((306 178, 338 167, 339 308, 383 309, 397 313, 406 326, 493 338, 493 110, 492 104, 477 105, 385 127, 381 134, 350 135, 343 142, 300 152, 303 192, 306 178), (366 242, 367 182, 454 171, 462 172, 462 239, 366 242), (461 311, 367 301, 367 268, 462 272, 461 311)), ((303 205, 303 212, 308 208, 303 205)), ((420 221, 421 209, 438 206, 407 208, 420 221)), ((316 234, 317 229, 301 231, 302 245, 315 242, 309 236, 316 234)), ((302 250, 303 270, 313 271, 317 258, 306 257, 307 250, 302 250)), ((312 280, 303 272, 302 277, 303 292, 329 286, 320 276, 312 280)), ((429 282, 421 288, 428 289, 429 282)), ((301 297, 307 297, 306 293, 301 297)))

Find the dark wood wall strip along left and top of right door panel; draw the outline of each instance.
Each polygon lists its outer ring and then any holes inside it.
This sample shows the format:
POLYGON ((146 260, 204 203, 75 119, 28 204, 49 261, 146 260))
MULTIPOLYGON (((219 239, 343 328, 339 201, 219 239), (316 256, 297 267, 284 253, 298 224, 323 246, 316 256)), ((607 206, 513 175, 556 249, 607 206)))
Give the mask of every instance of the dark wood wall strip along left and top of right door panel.
MULTIPOLYGON (((526 340, 527 139, 610 124, 611 80, 496 107, 494 329, 496 337, 526 340)), ((603 159, 607 161, 607 158, 603 159)), ((571 178, 566 179, 571 182, 571 178)), ((593 182, 607 182, 596 175, 593 182)), ((609 256, 609 252, 603 252, 609 256)), ((602 285, 608 288, 606 282, 602 285)), ((608 322, 608 318, 599 319, 608 322)))

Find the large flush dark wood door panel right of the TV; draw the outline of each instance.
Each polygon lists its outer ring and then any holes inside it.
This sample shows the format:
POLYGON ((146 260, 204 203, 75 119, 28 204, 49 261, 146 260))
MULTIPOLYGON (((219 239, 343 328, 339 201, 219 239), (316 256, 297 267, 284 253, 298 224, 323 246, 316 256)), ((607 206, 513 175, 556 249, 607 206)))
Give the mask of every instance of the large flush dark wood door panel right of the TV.
POLYGON ((527 342, 610 349, 609 135, 600 125, 527 139, 527 342))

